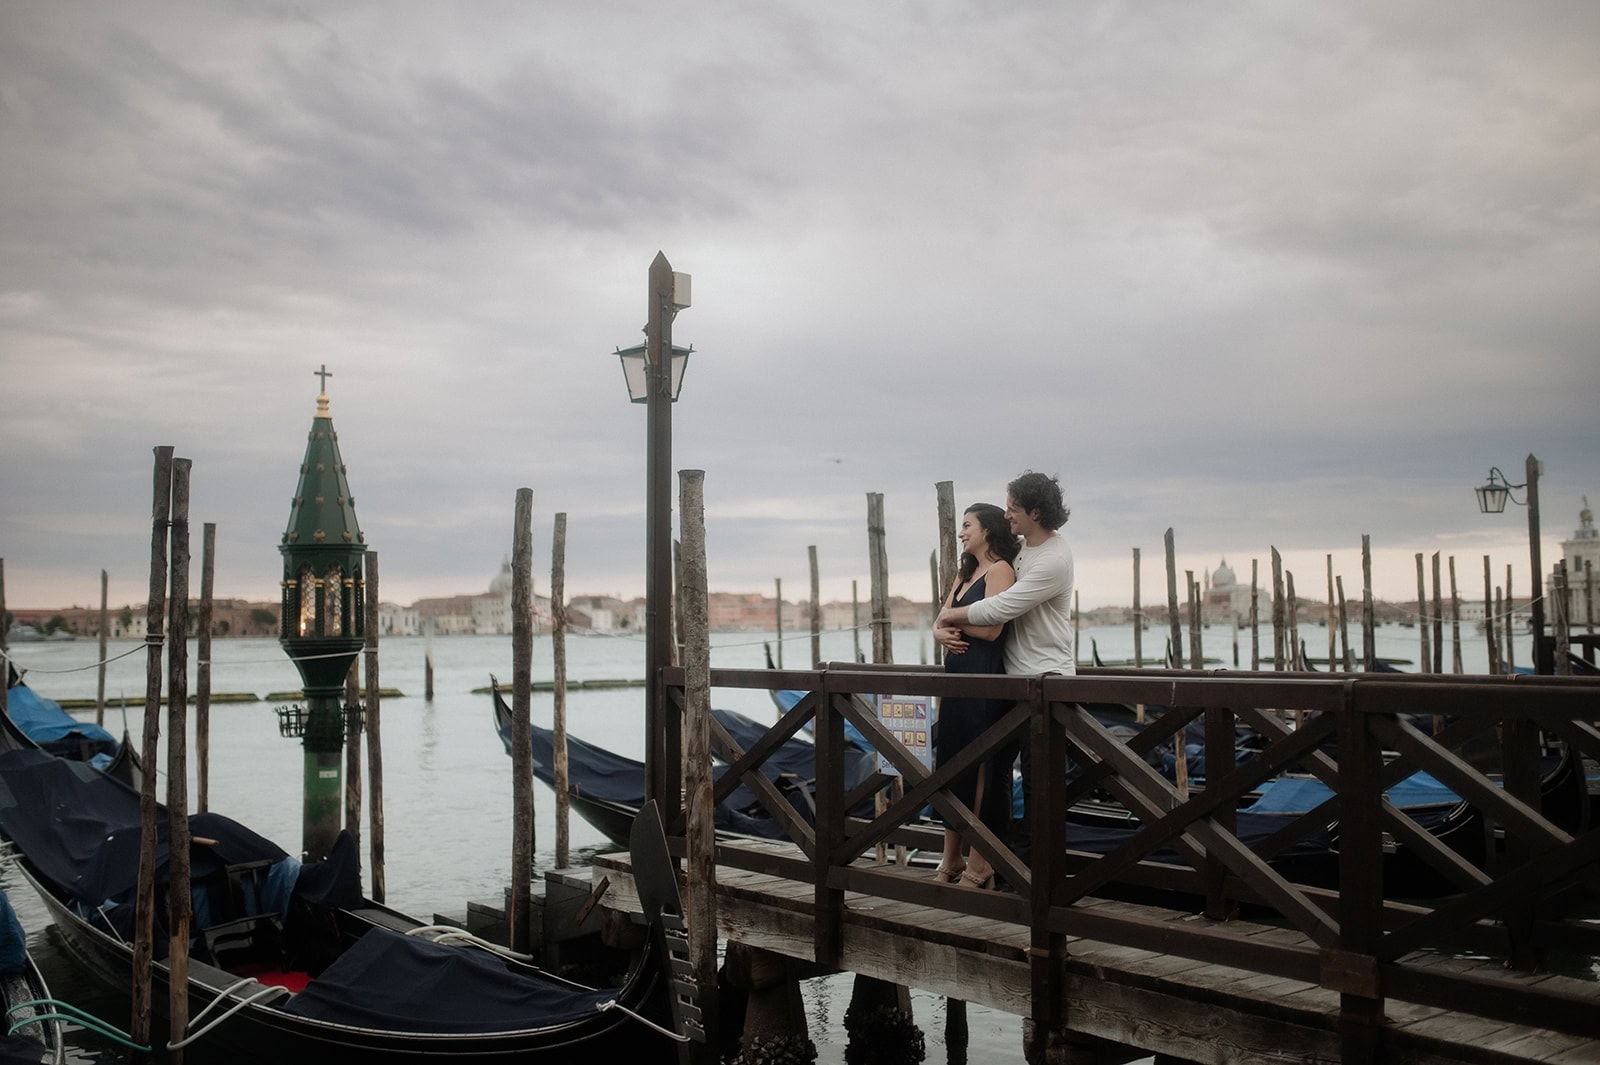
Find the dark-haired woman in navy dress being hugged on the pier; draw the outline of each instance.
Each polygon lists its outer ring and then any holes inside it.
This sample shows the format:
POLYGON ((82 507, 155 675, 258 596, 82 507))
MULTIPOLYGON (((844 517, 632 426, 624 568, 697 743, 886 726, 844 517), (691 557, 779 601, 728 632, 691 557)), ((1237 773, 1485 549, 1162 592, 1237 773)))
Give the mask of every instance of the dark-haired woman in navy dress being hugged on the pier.
MULTIPOLYGON (((944 598, 944 606, 970 606, 978 600, 1005 592, 1016 582, 1011 563, 1016 560, 1018 540, 1005 510, 994 504, 973 504, 962 515, 962 561, 955 584, 944 598)), ((1005 625, 974 625, 962 630, 966 649, 946 651, 946 673, 1005 673, 1005 625)), ((984 729, 1005 716, 1010 708, 1003 699, 952 699, 939 700, 939 723, 933 740, 936 764, 955 758, 984 729)), ((955 777, 950 793, 965 803, 984 827, 1005 841, 1011 827, 1011 766, 998 764, 990 756, 955 777)), ((962 857, 960 833, 944 830, 944 856, 938 878, 947 884, 966 883, 973 888, 989 888, 994 867, 978 851, 962 857)))

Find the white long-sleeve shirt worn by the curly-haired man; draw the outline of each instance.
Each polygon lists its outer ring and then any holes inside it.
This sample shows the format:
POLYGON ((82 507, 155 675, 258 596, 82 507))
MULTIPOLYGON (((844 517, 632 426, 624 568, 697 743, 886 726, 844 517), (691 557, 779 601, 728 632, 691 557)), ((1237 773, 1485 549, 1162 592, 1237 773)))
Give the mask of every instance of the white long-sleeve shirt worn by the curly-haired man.
POLYGON ((966 608, 973 625, 1011 622, 1005 638, 1005 672, 1077 673, 1072 654, 1072 548, 1051 532, 1016 556, 1016 584, 966 608))

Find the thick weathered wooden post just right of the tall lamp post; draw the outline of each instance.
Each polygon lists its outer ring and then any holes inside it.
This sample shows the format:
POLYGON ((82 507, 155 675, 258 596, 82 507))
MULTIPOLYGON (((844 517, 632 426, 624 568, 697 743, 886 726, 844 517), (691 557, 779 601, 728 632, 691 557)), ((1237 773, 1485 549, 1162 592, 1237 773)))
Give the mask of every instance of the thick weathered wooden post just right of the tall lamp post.
MULTIPOLYGON (((710 608, 706 579, 706 472, 678 470, 678 528, 683 537, 683 750, 685 881, 690 926, 690 966, 701 987, 706 1031, 717 1031, 717 830, 712 825, 710 776, 710 608)), ((813 569, 816 548, 811 548, 813 569)), ((816 601, 813 577, 813 603, 816 601)), ((818 652, 819 654, 819 652, 818 652)), ((715 1062, 717 1047, 698 1047, 715 1062)))

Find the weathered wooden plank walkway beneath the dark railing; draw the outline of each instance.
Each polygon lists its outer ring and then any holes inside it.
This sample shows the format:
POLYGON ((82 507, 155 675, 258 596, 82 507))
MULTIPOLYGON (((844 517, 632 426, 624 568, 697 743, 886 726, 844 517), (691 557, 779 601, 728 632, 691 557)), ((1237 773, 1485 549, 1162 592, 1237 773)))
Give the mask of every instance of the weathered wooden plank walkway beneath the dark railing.
MULTIPOLYGON (((797 848, 784 843, 738 841, 726 846, 757 860, 762 854, 800 857, 797 848)), ((861 865, 869 867, 867 862, 861 865)), ((906 872, 890 867, 888 873, 917 881, 930 876, 928 870, 917 867, 906 872)), ((594 878, 595 883, 610 880, 605 905, 622 910, 637 905, 627 854, 597 857, 594 878)), ((1214 932, 1219 958, 1227 958, 1230 942, 1310 947, 1302 932, 1250 921, 1211 921, 1197 913, 1104 899, 1086 899, 1078 905, 1109 918, 1173 923, 1190 934, 1214 932)), ((718 867, 717 924, 726 942, 814 963, 816 923, 810 884, 718 867)), ((845 971, 1024 1017, 1032 1011, 1026 924, 846 892, 843 932, 840 967, 845 971)), ((1538 987, 1568 998, 1574 1011, 1600 1015, 1600 982, 1525 974, 1493 961, 1430 953, 1416 953, 1403 961, 1488 988, 1526 991, 1538 987)), ((1074 1035, 1138 1047, 1141 1054, 1274 1065, 1341 1060, 1339 993, 1315 982, 1074 935, 1067 940, 1061 987, 1061 1011, 1074 1035)), ((1418 1065, 1600 1062, 1600 1038, 1406 1003, 1389 1003, 1384 1041, 1387 1060, 1418 1065)))

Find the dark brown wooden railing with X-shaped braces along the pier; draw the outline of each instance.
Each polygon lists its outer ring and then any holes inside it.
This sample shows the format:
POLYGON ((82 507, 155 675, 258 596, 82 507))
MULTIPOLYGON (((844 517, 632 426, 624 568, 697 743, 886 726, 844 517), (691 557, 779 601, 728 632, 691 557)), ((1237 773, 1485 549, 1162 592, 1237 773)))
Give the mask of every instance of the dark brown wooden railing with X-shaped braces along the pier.
MULTIPOLYGON (((853 891, 1030 927, 1035 1020, 1050 1027, 1061 1022, 1066 942, 1080 935, 1336 990, 1347 1047, 1379 1038, 1390 998, 1600 1036, 1600 1015, 1586 1001, 1538 982, 1507 987, 1416 964, 1416 951, 1474 951, 1526 969, 1552 947, 1600 956, 1600 926, 1568 916, 1574 905, 1600 911, 1600 832, 1589 824, 1582 771, 1584 758, 1600 761, 1594 678, 1189 670, 962 676, 842 665, 712 670, 712 688, 808 692, 750 750, 712 729, 731 763, 717 800, 742 782, 798 854, 720 848, 717 860, 811 884, 822 966, 840 964, 843 897, 853 891), (1002 699, 1014 708, 957 760, 928 771, 870 710, 870 697, 890 694, 1002 699), (1131 729, 1114 734, 1102 721, 1107 707, 1141 705, 1149 715, 1131 729), (845 721, 904 779, 904 796, 872 817, 848 816, 882 779, 846 793, 845 721), (1187 737, 1190 723, 1203 731, 1205 764, 1222 769, 1203 787, 1181 790, 1147 755, 1171 748, 1179 732, 1187 737), (765 758, 806 726, 818 752, 810 820, 760 772, 765 758), (1238 729, 1253 739, 1248 750, 1237 747, 1238 729), (946 790, 963 769, 1019 742, 1032 784, 1027 859, 946 790), (1384 798, 1418 771, 1462 798, 1443 824, 1384 798), (1315 777, 1328 798, 1309 812, 1283 814, 1270 833, 1242 836, 1240 808, 1286 772, 1315 777), (917 824, 930 804, 990 859, 1010 891, 958 891, 858 862, 878 843, 938 851, 939 827, 917 824), (1098 852, 1074 846, 1069 828, 1086 809, 1122 809, 1126 830, 1098 852), (1296 860, 1306 854, 1314 857, 1296 860), (1435 897, 1386 894, 1386 878, 1418 870, 1438 884, 1435 897), (1214 921, 1176 924, 1074 905, 1128 891, 1170 892, 1219 919, 1242 907, 1267 913, 1304 940, 1238 937, 1214 921)), ((680 680, 669 681, 669 697, 682 704, 680 680)))

